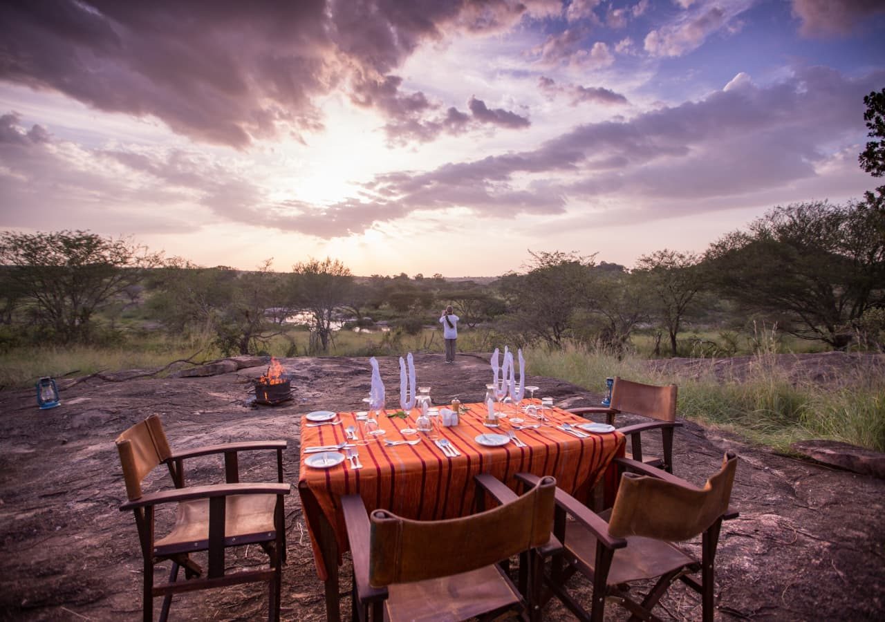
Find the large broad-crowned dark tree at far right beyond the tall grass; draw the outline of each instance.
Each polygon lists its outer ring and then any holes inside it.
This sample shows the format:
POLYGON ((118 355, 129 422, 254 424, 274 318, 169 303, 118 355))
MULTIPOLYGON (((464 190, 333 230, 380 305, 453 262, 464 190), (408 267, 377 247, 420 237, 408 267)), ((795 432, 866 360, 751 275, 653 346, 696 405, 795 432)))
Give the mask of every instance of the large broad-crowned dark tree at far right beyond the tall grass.
POLYGON ((722 296, 844 349, 864 311, 885 304, 882 218, 866 203, 776 207, 714 242, 705 261, 722 296))

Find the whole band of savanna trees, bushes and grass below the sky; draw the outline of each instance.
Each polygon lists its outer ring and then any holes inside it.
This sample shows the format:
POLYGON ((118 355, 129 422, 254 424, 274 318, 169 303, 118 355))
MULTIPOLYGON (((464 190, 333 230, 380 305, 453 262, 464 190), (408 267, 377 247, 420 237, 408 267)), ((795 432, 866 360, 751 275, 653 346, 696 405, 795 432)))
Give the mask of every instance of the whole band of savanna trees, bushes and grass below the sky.
MULTIPOLYGON (((878 140, 859 159, 879 177, 885 89, 865 102, 878 140)), ((885 450, 881 372, 830 390, 770 365, 779 352, 885 347, 883 196, 774 207, 703 254, 658 250, 627 267, 529 251, 519 271, 482 280, 356 276, 332 258, 240 271, 84 231, 5 232, 0 384, 235 354, 442 351, 437 319, 452 304, 459 350, 524 347, 529 373, 598 390, 615 374, 673 380, 648 371, 652 357, 751 354, 741 382, 678 380, 681 415, 779 445, 813 435, 885 450)))

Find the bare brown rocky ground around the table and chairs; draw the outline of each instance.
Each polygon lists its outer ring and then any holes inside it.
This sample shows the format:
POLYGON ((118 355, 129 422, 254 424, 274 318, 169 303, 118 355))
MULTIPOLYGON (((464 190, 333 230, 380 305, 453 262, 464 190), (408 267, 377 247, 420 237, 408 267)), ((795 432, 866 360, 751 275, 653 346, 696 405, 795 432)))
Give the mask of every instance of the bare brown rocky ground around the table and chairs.
MULTIPOLYGON (((827 365, 831 361, 835 358, 827 365)), ((126 495, 113 440, 152 413, 163 418, 173 448, 289 441, 285 477, 293 491, 287 500, 282 618, 325 618, 295 486, 299 418, 320 409, 358 410, 368 393, 369 365, 365 358, 282 363, 296 399, 274 408, 248 403, 250 379, 266 366, 200 378, 125 380, 134 374, 122 373, 115 376, 118 381, 65 379, 62 405, 50 411, 36 408, 33 390, 0 390, 0 619, 140 618, 141 553, 132 515, 118 509, 126 495)), ((380 363, 387 386, 398 388, 396 360, 381 357, 380 363)), ((489 376, 488 356, 459 355, 456 365, 444 365, 442 355, 419 355, 416 367, 419 382, 433 387, 436 403, 455 395, 480 401, 489 376)), ((596 405, 601 397, 561 380, 530 380, 541 387, 537 396, 553 396, 566 408, 596 405)), ((885 619, 885 480, 775 455, 690 423, 676 433, 675 471, 701 484, 726 449, 741 458, 732 497, 741 516, 723 526, 717 619, 885 619)), ((189 481, 219 481, 219 465, 215 459, 196 461, 189 481)), ((243 456, 241 473, 243 481, 273 480, 273 457, 243 456)), ((167 477, 159 473, 158 484, 168 485, 167 477)), ((689 543, 689 548, 698 546, 689 543)), ((342 592, 350 587, 348 559, 342 592)), ((242 557, 228 556, 228 564, 261 563, 254 548, 242 557)), ((587 581, 575 578, 571 585, 589 603, 587 581)), ((349 610, 344 597, 345 619, 349 610)), ((674 586, 656 611, 662 618, 698 619, 699 598, 674 586)), ((628 617, 613 603, 607 613, 606 619, 628 617)), ((544 614, 552 620, 572 618, 556 601, 544 614)), ((172 610, 173 619, 265 616, 266 590, 259 584, 177 596, 172 610)))

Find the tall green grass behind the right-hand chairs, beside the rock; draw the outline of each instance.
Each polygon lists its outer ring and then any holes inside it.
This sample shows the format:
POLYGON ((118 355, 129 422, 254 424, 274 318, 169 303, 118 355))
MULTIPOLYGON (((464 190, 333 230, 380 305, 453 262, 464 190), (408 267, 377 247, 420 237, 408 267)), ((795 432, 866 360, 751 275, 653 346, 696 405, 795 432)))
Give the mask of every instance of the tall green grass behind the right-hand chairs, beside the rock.
POLYGON ((533 349, 527 373, 567 380, 604 392, 605 378, 622 376, 650 384, 679 385, 677 414, 726 429, 781 451, 808 439, 831 439, 885 451, 885 372, 870 368, 843 378, 840 388, 795 382, 760 353, 741 380, 719 380, 712 366, 696 377, 653 372, 639 357, 614 357, 581 346, 533 349))

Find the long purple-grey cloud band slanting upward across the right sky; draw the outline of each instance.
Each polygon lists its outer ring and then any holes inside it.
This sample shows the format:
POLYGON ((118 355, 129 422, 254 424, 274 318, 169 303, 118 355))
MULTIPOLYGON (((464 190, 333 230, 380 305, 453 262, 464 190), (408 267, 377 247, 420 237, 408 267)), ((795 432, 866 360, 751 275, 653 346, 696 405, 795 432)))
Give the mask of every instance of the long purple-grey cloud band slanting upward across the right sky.
MULTIPOLYGON (((795 193, 797 183, 811 187, 831 167, 825 145, 857 134, 858 98, 882 80, 885 72, 848 79, 809 67, 761 88, 739 75, 699 102, 575 127, 535 150, 379 175, 365 185, 365 205, 515 218, 563 214, 566 205, 619 193, 640 206, 629 219, 659 219, 674 213, 655 210, 665 201, 681 201, 684 214, 735 207, 763 192, 795 193), (525 179, 535 183, 517 188, 525 179)), ((549 78, 541 84, 556 88, 549 78)))

